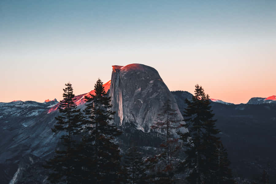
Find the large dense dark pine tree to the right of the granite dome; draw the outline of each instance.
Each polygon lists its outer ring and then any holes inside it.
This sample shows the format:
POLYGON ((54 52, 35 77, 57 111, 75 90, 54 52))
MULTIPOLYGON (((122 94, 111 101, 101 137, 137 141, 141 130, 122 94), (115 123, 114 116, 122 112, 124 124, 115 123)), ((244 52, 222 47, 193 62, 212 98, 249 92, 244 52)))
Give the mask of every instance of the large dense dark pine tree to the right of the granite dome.
MULTIPOLYGON (((208 94, 205 95, 203 88, 199 85, 195 86, 195 95, 191 101, 186 99, 187 108, 184 111, 184 117, 189 132, 178 134, 181 136, 186 146, 186 159, 179 165, 179 170, 189 169, 190 173, 186 177, 190 183, 214 183, 216 174, 223 177, 232 177, 231 174, 225 174, 229 171, 229 161, 225 155, 225 150, 220 154, 224 154, 224 159, 220 157, 220 165, 218 158, 215 156, 218 146, 221 147, 220 138, 217 134, 220 132, 215 128, 216 120, 213 120, 214 114, 211 110, 211 102, 208 94), (224 162, 224 165, 222 165, 224 162), (220 171, 218 172, 218 168, 220 171)), ((230 179, 230 178, 228 178, 230 179)), ((230 180, 229 180, 230 181, 230 180)), ((217 181, 216 183, 223 183, 217 181)))

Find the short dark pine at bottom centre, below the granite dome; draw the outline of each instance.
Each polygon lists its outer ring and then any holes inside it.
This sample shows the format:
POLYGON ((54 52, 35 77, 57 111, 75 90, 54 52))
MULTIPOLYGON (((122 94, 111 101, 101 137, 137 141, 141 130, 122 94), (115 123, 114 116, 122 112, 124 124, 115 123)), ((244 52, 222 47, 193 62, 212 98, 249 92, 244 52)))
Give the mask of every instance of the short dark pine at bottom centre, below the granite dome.
POLYGON ((144 160, 141 153, 137 151, 136 147, 128 149, 128 152, 125 155, 124 168, 127 170, 126 183, 144 184, 146 182, 146 168, 144 166, 144 160))

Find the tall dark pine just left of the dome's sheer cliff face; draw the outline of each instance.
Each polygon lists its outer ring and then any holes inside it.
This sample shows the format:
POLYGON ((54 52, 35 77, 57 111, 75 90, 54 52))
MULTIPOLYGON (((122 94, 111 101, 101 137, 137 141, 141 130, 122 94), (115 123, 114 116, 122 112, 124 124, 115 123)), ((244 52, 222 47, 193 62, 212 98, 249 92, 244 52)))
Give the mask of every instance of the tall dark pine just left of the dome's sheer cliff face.
POLYGON ((121 132, 109 123, 114 112, 110 110, 110 97, 107 96, 100 79, 96 82, 94 91, 95 94, 85 97, 83 174, 96 183, 115 183, 118 182, 121 156, 118 145, 114 143, 114 137, 119 136, 121 132))

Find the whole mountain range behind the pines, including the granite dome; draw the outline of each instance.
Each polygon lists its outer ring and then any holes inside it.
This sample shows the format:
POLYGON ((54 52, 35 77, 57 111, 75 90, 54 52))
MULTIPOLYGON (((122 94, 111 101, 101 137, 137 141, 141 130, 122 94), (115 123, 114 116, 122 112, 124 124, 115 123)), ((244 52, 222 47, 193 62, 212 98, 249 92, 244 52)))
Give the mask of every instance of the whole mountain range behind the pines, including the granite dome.
MULTIPOLYGON (((162 142, 163 134, 150 129, 156 116, 149 115, 158 114, 159 107, 169 97, 180 113, 178 117, 184 119, 182 113, 187 106, 185 99, 190 100, 193 94, 187 91, 170 92, 152 67, 141 64, 113 66, 111 81, 104 85, 105 91, 112 98, 113 110, 118 112, 120 108, 122 113, 121 117, 118 113, 117 120, 114 120, 124 130, 120 140, 116 141, 123 151, 132 144, 131 141, 138 141, 136 145, 140 146, 144 154, 154 153, 157 150, 155 146, 162 142)), ((84 107, 84 96, 90 93, 93 90, 75 96, 79 108, 84 107)), ((15 184, 23 182, 24 176, 33 176, 38 183, 45 183, 46 175, 40 163, 50 158, 60 144, 59 135, 51 131, 56 124, 55 117, 59 115, 58 104, 50 107, 48 103, 51 102, 0 103, 0 172, 4 183, 10 182, 12 178, 15 184), (54 110, 49 112, 49 109, 54 110), (39 164, 36 165, 36 162, 39 164), (36 176, 36 173, 39 174, 36 176)), ((260 105, 211 104, 215 118, 218 119, 216 127, 221 130, 222 142, 229 150, 234 174, 237 176, 241 173, 247 177, 252 173, 257 175, 258 169, 266 167, 266 158, 272 159, 276 153, 272 147, 276 121, 273 112, 276 111, 276 105, 272 102, 260 105), (256 149, 259 147, 262 150, 256 149)), ((271 166, 275 165, 271 162, 271 166)))

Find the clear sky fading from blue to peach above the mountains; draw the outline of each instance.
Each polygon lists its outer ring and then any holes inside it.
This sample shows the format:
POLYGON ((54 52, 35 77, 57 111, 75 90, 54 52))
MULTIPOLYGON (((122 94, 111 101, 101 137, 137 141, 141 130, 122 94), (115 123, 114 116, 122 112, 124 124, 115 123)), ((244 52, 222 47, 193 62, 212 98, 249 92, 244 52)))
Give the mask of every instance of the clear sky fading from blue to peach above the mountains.
POLYGON ((0 102, 84 94, 131 63, 170 90, 276 95, 276 1, 0 1, 0 102))

